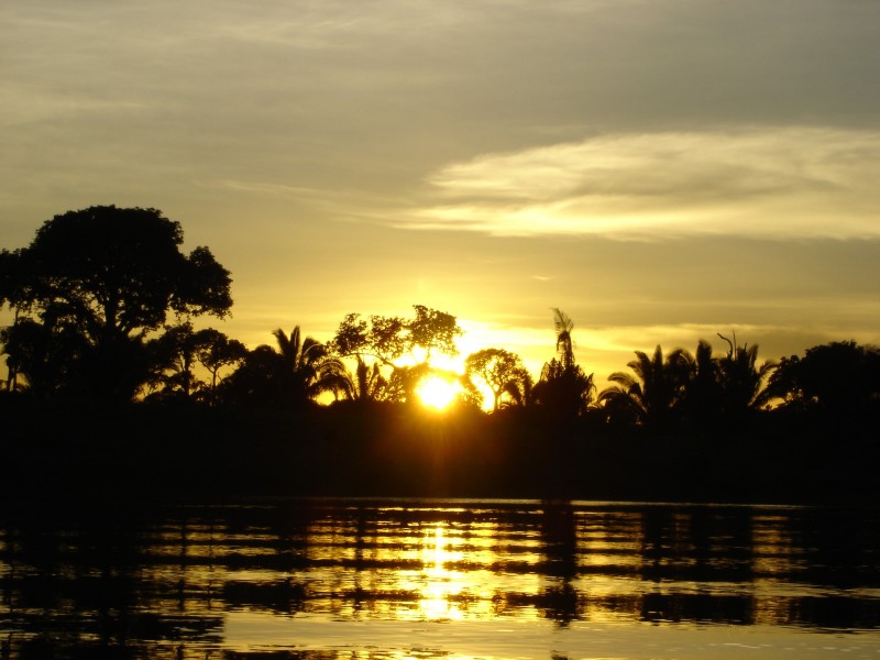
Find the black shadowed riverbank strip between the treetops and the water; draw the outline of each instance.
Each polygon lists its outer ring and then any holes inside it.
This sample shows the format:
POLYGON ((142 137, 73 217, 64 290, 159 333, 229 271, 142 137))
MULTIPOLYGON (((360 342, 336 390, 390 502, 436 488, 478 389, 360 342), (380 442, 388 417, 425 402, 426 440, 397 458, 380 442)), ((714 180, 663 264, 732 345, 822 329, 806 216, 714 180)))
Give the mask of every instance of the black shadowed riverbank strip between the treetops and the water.
POLYGON ((0 494, 228 501, 524 497, 873 504, 862 424, 766 416, 737 429, 610 429, 539 411, 403 406, 6 410, 0 494), (822 421, 822 424, 820 424, 822 421))

